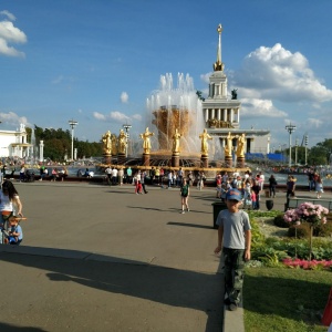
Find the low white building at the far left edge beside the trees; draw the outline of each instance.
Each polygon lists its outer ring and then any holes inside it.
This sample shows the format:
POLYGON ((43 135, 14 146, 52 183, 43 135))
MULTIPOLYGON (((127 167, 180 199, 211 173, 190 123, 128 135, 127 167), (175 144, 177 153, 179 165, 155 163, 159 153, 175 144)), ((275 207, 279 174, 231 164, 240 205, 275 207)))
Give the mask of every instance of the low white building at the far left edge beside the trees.
POLYGON ((23 124, 17 131, 0 129, 0 157, 29 156, 31 144, 27 142, 27 132, 23 124))

